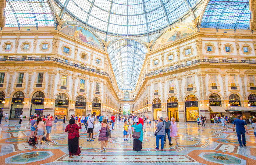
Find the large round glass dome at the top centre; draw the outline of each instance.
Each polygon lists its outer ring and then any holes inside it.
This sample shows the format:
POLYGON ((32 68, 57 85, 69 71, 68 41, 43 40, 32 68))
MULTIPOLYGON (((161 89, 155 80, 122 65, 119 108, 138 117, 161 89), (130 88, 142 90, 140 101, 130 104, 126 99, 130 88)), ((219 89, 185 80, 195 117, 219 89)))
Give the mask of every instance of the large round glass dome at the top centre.
POLYGON ((191 7, 197 2, 197 0, 55 1, 58 1, 65 11, 96 29, 126 35, 161 29, 190 12, 191 7))

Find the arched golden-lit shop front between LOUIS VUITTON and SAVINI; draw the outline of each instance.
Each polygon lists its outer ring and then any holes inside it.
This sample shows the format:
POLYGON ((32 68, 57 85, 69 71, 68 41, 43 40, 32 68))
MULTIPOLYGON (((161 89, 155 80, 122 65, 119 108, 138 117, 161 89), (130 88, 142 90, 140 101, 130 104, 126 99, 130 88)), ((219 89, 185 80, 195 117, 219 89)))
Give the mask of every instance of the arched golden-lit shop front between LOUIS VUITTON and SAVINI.
POLYGON ((189 95, 186 97, 185 109, 186 109, 186 122, 196 121, 197 116, 199 116, 198 101, 196 96, 189 95))

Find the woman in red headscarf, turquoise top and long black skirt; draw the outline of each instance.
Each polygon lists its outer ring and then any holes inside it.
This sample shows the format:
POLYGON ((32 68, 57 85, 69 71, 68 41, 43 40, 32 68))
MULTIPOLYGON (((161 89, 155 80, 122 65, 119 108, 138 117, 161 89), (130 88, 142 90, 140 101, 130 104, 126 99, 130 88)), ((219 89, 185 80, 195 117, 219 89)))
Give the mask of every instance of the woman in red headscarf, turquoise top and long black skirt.
MULTIPOLYGON (((140 132, 140 138, 135 139, 133 138, 133 150, 134 151, 141 151, 142 149, 142 140, 143 140, 143 119, 139 118, 139 122, 137 125, 132 125, 134 127, 135 132, 140 132)), ((134 133, 134 132, 133 132, 134 133)))

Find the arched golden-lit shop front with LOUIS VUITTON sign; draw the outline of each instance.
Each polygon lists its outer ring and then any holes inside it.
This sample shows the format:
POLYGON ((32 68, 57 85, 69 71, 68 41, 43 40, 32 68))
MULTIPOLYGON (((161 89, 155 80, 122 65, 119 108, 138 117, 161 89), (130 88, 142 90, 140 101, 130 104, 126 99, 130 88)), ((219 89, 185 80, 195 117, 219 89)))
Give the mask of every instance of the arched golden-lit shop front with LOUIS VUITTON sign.
POLYGON ((167 108, 169 120, 173 117, 175 121, 179 121, 178 99, 176 97, 170 97, 167 100, 167 108))

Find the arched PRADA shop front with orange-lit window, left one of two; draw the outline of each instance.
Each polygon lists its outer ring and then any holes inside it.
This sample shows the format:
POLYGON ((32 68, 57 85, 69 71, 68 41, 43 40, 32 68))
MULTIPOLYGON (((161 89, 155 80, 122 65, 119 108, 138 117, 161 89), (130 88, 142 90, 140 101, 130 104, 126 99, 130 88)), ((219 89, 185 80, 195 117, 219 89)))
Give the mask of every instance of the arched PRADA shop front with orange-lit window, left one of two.
POLYGON ((64 93, 59 93, 56 96, 54 116, 57 116, 58 119, 63 119, 64 115, 67 116, 68 108, 69 108, 68 99, 69 99, 68 96, 64 93))

